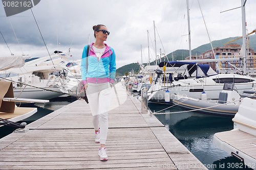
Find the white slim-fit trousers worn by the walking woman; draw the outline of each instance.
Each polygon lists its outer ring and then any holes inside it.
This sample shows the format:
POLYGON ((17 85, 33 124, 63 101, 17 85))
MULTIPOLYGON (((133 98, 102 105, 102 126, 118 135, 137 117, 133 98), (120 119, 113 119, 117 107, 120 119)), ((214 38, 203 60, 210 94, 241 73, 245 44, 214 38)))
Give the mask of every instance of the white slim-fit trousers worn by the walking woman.
POLYGON ((108 135, 108 113, 112 90, 109 83, 88 83, 86 90, 89 105, 92 111, 92 122, 95 130, 100 124, 100 144, 105 144, 108 135))

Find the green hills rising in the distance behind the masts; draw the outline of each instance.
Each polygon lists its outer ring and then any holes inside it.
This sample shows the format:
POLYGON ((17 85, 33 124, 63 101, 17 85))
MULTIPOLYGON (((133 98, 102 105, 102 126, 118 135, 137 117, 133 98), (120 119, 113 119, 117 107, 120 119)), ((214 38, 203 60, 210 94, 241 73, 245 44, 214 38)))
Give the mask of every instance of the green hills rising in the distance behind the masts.
MULTIPOLYGON (((224 43, 227 43, 227 42, 237 39, 237 38, 239 38, 239 37, 230 37, 230 38, 225 38, 225 39, 221 39, 221 40, 216 40, 216 41, 212 41, 211 44, 212 44, 212 47, 214 47, 214 48, 222 47, 222 46, 225 46, 225 45, 223 45, 224 43)), ((232 43, 237 43, 242 46, 242 38, 240 38, 236 41, 233 41, 232 43)), ((255 34, 249 36, 249 46, 256 49, 256 35, 255 34)), ((194 50, 191 50, 191 54, 193 56, 200 55, 210 49, 211 49, 210 43, 204 44, 204 45, 201 45, 201 46, 195 48, 194 50)), ((173 60, 172 56, 174 56, 174 60, 185 60, 185 58, 189 56, 189 50, 176 50, 176 51, 168 54, 167 58, 169 61, 173 60)), ((150 64, 154 65, 154 62, 151 62, 150 64)), ((144 63, 144 65, 147 65, 147 64, 144 63)), ((134 70, 134 72, 138 72, 140 67, 137 63, 131 63, 131 64, 127 64, 127 65, 124 65, 124 66, 116 69, 116 72, 118 73, 117 75, 124 75, 125 72, 130 72, 132 69, 134 70)))

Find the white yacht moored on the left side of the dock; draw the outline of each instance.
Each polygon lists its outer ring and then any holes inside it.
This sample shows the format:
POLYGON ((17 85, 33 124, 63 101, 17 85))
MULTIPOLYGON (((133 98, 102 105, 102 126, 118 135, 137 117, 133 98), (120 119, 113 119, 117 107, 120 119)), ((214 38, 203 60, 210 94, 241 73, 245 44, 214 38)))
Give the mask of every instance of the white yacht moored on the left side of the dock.
POLYGON ((78 80, 66 67, 68 62, 66 53, 55 51, 51 57, 38 58, 26 62, 23 67, 2 71, 2 74, 17 75, 2 80, 13 81, 14 96, 20 98, 49 100, 63 94, 74 94, 78 80))

